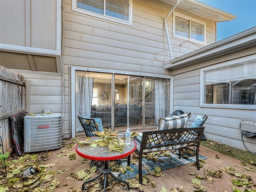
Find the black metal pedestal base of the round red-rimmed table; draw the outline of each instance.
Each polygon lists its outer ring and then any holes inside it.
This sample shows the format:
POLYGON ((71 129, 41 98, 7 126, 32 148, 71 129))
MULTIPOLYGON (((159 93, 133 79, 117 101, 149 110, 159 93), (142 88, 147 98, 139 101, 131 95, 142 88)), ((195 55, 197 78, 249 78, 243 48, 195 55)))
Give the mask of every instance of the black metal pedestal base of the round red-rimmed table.
MULTIPOLYGON (((86 185, 87 183, 92 182, 92 181, 94 181, 94 180, 100 178, 100 176, 102 176, 103 174, 104 174, 103 192, 106 192, 106 187, 108 186, 108 174, 110 174, 114 179, 116 179, 116 180, 118 180, 118 181, 123 182, 124 184, 126 184, 127 190, 130 190, 130 186, 129 186, 129 183, 128 183, 128 182, 126 182, 125 180, 122 180, 122 179, 120 179, 120 178, 114 176, 114 174, 112 174, 111 168, 108 167, 108 161, 104 161, 104 168, 102 168, 102 169, 100 170, 100 172, 101 172, 101 173, 100 173, 98 176, 96 176, 96 177, 94 177, 94 178, 92 178, 92 179, 86 180, 86 181, 82 184, 82 190, 85 190, 85 189, 86 189, 85 185, 86 185)), ((97 180, 97 181, 98 181, 98 182, 102 182, 102 181, 100 181, 100 180, 97 180)))

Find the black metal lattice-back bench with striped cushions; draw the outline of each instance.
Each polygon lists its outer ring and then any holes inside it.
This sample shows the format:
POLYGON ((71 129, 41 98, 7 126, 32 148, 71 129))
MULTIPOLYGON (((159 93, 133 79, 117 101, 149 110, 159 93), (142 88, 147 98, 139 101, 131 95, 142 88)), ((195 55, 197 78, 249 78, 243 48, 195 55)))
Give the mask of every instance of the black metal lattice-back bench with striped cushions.
MULTIPOLYGON (((179 158, 181 158, 182 148, 194 146, 197 169, 200 170, 198 152, 204 127, 185 128, 186 121, 191 115, 184 114, 170 118, 160 118, 158 130, 143 131, 139 133, 139 136, 134 137, 137 144, 135 152, 139 155, 140 184, 142 184, 142 158, 144 153, 179 150, 179 158), (165 129, 160 129, 161 121, 163 122, 162 128, 167 125, 165 129)), ((204 124, 207 117, 204 116, 202 124, 204 124)))

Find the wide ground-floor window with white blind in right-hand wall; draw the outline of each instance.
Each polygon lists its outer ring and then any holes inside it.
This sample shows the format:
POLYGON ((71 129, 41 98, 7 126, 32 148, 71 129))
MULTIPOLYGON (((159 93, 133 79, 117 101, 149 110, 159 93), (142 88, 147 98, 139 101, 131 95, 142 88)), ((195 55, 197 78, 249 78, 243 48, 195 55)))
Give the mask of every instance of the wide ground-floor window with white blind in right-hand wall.
POLYGON ((226 108, 230 108, 230 105, 243 108, 242 105, 246 105, 246 108, 255 108, 256 60, 203 70, 202 75, 203 104, 226 108))

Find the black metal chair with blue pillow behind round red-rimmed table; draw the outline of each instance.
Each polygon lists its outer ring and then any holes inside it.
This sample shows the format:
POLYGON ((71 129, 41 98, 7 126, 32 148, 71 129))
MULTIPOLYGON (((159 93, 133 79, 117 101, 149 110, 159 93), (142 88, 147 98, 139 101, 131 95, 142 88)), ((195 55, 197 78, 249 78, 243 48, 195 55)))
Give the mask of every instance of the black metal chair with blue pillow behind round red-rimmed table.
MULTIPOLYGON (((95 134, 93 134, 93 132, 95 131, 103 131, 103 128, 107 128, 108 127, 104 127, 102 126, 102 121, 100 118, 89 118, 89 117, 82 117, 82 116, 77 116, 81 126, 84 129, 85 135, 86 137, 92 137, 95 136, 95 134)), ((115 160, 116 164, 120 164, 121 160, 115 160)), ((98 169, 102 168, 102 166, 104 166, 104 161, 96 161, 96 160, 91 160, 90 161, 90 165, 91 166, 96 166, 98 169)))

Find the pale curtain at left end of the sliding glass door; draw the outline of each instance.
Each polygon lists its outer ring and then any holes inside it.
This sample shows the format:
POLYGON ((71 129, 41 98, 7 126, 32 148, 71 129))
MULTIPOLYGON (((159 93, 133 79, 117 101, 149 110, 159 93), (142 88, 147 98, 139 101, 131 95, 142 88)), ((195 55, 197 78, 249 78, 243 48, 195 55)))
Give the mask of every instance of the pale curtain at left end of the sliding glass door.
POLYGON ((76 78, 76 132, 83 132, 77 116, 90 117, 92 107, 93 78, 79 76, 76 78))

